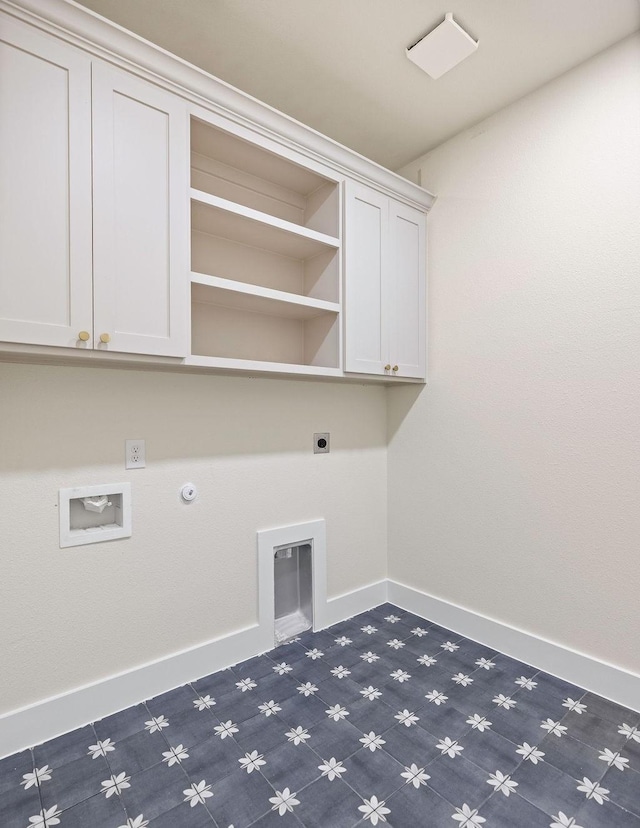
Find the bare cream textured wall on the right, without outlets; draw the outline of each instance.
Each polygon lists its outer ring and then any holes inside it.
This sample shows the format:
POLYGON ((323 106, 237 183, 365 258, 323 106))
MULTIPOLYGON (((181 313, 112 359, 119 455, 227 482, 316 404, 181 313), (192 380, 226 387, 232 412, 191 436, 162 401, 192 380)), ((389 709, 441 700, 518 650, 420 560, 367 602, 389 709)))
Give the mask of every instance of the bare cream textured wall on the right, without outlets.
POLYGON ((640 38, 418 170, 430 383, 389 397, 389 577, 640 672, 640 38))

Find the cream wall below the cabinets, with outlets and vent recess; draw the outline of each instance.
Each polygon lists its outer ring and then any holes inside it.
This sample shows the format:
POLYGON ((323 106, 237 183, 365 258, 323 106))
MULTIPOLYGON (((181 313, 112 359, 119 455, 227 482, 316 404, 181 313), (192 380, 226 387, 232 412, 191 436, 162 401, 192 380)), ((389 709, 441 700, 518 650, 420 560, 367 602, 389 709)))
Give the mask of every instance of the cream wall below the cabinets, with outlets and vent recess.
POLYGON ((0 424, 0 714, 256 623, 258 529, 326 518, 329 597, 386 577, 381 388, 0 364, 0 424), (58 489, 124 480, 133 537, 60 549, 58 489))

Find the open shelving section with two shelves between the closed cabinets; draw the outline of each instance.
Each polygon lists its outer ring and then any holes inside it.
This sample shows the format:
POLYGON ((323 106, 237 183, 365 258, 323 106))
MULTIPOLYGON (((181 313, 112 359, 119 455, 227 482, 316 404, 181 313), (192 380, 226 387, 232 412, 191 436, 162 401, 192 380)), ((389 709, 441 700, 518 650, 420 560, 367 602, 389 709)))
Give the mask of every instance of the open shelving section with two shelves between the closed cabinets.
POLYGON ((339 374, 341 185, 191 119, 195 365, 339 374))

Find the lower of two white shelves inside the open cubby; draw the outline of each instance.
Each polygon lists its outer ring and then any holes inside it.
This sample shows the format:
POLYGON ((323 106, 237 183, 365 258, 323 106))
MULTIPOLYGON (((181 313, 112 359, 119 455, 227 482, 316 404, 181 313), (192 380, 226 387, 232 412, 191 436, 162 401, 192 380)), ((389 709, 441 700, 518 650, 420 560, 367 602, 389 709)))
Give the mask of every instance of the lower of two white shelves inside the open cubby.
POLYGON ((337 302, 325 302, 205 273, 191 274, 191 296, 194 302, 289 319, 312 319, 321 313, 340 312, 337 302))

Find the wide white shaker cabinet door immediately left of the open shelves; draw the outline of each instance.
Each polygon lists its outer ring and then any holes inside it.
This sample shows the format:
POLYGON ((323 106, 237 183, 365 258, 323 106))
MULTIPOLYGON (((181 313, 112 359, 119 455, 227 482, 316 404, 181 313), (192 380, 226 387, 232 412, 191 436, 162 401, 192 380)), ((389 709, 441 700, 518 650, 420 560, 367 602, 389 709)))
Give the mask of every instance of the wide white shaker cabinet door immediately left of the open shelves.
POLYGON ((93 65, 97 347, 188 353, 187 113, 182 99, 93 65))

